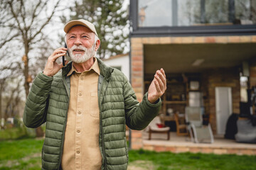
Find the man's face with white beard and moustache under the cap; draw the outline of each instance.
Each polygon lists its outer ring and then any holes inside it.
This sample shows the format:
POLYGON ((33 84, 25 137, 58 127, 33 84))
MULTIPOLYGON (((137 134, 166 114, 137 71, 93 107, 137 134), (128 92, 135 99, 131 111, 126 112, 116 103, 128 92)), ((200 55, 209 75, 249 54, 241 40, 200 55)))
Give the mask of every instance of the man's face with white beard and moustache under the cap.
POLYGON ((75 26, 66 36, 68 52, 73 62, 82 63, 95 56, 95 33, 85 26, 75 26))

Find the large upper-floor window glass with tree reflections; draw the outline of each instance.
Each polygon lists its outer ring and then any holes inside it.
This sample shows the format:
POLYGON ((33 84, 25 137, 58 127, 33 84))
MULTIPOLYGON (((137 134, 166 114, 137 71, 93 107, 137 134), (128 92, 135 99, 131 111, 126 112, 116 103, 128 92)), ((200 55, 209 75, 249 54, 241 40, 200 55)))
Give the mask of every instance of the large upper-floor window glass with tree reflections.
POLYGON ((139 0, 139 27, 256 23, 256 0, 139 0))

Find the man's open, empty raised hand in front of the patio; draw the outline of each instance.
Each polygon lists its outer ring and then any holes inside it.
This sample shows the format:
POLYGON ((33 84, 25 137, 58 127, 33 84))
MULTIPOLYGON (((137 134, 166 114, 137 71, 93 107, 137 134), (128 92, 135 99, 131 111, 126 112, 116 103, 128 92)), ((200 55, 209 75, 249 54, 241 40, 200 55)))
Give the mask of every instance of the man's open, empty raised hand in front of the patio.
POLYGON ((148 100, 150 103, 154 103, 161 97, 166 91, 166 74, 164 69, 156 71, 154 79, 149 86, 148 100))

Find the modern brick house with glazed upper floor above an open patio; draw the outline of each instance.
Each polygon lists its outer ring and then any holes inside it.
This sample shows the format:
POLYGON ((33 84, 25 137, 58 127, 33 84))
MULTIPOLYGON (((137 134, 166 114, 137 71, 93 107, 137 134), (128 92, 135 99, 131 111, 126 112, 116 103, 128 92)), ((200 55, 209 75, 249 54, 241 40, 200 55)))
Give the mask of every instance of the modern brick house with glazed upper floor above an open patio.
MULTIPOLYGON (((163 68, 163 121, 174 120, 169 111, 200 106, 213 134, 224 135, 229 116, 247 101, 246 89, 256 86, 256 0, 131 0, 129 12, 139 101, 163 68)), ((142 132, 132 130, 132 149, 143 145, 142 132)))

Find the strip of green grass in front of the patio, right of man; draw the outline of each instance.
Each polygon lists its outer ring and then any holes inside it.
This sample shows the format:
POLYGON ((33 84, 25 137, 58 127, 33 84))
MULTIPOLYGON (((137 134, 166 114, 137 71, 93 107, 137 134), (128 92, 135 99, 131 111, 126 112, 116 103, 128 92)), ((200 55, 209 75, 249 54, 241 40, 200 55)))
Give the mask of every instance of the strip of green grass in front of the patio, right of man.
POLYGON ((171 152, 149 152, 144 150, 129 152, 129 162, 143 160, 153 162, 157 170, 169 169, 255 169, 256 156, 235 154, 192 154, 171 152))

